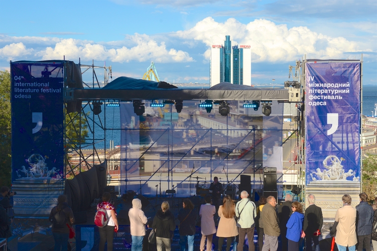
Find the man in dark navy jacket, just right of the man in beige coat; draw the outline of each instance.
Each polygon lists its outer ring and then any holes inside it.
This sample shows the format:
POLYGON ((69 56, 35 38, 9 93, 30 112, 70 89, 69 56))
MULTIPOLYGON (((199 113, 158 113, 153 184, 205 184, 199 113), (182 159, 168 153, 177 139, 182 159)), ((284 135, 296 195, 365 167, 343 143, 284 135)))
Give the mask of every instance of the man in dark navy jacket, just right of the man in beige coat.
POLYGON ((360 204, 356 206, 356 231, 357 231, 357 250, 365 248, 370 251, 370 241, 373 223, 373 208, 368 204, 368 195, 360 193, 360 204))

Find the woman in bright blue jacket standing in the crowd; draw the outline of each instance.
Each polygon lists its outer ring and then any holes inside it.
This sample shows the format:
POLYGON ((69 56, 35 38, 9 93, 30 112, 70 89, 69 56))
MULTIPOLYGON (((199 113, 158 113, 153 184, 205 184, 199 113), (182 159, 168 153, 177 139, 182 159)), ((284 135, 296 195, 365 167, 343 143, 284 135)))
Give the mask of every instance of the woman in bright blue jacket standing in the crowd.
POLYGON ((304 222, 304 214, 302 213, 302 205, 295 201, 292 203, 292 215, 287 222, 287 239, 288 250, 299 251, 299 241, 301 238, 302 224, 304 222))

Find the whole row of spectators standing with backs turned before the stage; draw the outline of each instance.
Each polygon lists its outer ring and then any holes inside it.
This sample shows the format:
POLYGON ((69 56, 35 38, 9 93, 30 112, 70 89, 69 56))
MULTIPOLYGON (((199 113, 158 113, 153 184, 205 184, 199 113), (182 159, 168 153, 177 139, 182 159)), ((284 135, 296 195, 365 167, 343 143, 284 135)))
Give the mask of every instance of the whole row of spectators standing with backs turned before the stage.
MULTIPOLYGON (((10 236, 9 225, 12 219, 7 213, 7 209, 10 208, 7 199, 9 195, 9 188, 2 187, 0 237, 10 236)), ((180 250, 194 250, 197 223, 201 226, 201 251, 213 250, 214 235, 218 237, 218 250, 222 250, 224 239, 226 239, 225 250, 229 251, 233 245, 233 250, 241 251, 246 244, 244 242, 247 236, 248 250, 254 251, 255 228, 258 232, 259 251, 278 250, 279 237, 283 251, 299 251, 304 243, 307 251, 320 250, 319 235, 323 226, 323 216, 321 208, 315 205, 313 194, 308 195, 309 205, 305 212, 300 202, 292 202, 293 198, 290 194, 286 195, 284 203, 278 208, 274 196, 267 198, 261 196, 257 207, 249 199, 249 194, 242 191, 240 200, 236 203, 229 195, 224 196, 216 210, 213 199, 217 203, 217 196, 217 193, 205 196, 205 204, 200 206, 199 212, 196 211, 189 198, 183 199, 182 209, 177 215, 180 250), (216 228, 217 217, 219 220, 216 228)), ((351 196, 345 194, 342 197, 343 206, 336 211, 330 234, 334 236, 339 251, 345 251, 347 248, 349 251, 356 249, 370 251, 371 243, 374 250, 377 250, 377 229, 373 230, 377 226, 377 197, 374 198, 371 206, 368 204, 368 196, 365 193, 359 194, 359 200, 359 204, 353 207, 351 196)), ((118 229, 115 207, 110 203, 110 193, 103 193, 102 202, 97 205, 97 211, 99 209, 105 209, 108 218, 106 225, 99 228, 99 250, 103 250, 107 242, 109 251, 113 249, 114 232, 118 229)), ((176 223, 167 201, 162 202, 161 208, 157 210, 152 220, 144 214, 141 200, 135 198, 129 210, 129 218, 132 251, 171 250, 176 223), (152 231, 155 234, 155 242, 150 243, 148 237, 152 231)), ((55 240, 54 250, 67 250, 70 227, 75 219, 65 195, 58 197, 58 204, 51 210, 49 220, 52 222, 55 240)))

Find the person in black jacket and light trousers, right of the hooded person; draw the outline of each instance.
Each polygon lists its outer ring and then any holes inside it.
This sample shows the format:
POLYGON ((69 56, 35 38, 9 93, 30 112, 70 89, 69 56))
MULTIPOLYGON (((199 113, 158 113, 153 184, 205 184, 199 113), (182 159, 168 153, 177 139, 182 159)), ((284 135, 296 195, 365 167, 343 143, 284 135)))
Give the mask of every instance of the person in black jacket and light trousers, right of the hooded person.
POLYGON ((169 211, 169 203, 167 201, 162 202, 161 209, 156 212, 152 228, 156 231, 157 250, 162 251, 162 247, 165 246, 166 251, 171 251, 175 223, 174 215, 169 211))

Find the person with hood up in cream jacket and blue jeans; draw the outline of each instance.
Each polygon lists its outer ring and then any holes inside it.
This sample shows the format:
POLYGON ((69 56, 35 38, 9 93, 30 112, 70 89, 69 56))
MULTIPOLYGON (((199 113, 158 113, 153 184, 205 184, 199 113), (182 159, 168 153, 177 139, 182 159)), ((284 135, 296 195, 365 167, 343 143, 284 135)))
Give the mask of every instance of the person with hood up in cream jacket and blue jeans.
POLYGON ((140 199, 133 199, 132 208, 129 211, 129 217, 132 237, 131 250, 142 251, 145 225, 147 224, 148 219, 142 211, 142 202, 140 199))

